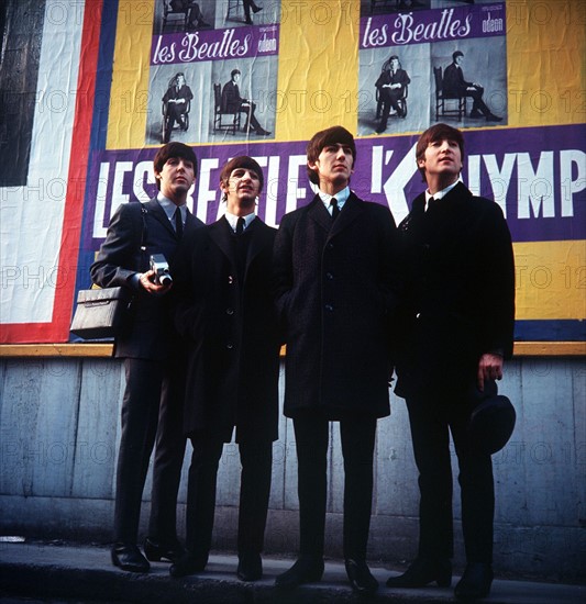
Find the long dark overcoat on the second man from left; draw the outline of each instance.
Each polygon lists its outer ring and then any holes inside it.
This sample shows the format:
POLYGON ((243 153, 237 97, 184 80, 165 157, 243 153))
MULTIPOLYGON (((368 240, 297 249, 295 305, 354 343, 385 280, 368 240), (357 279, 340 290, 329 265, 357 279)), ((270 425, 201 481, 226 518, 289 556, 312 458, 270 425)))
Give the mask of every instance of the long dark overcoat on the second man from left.
POLYGON ((187 340, 185 430, 275 440, 280 340, 270 291, 276 230, 256 217, 242 284, 225 217, 185 232, 173 267, 175 323, 187 340))

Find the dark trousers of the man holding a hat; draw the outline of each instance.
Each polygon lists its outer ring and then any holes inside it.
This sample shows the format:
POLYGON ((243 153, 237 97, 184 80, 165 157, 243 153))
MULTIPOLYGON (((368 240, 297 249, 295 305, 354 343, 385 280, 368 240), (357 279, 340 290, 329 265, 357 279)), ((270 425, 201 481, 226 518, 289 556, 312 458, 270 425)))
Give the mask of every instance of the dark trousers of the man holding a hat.
POLYGON ((453 556, 450 433, 460 468, 462 528, 468 562, 493 560, 495 489, 489 455, 475 451, 467 436, 472 404, 463 395, 407 399, 419 470, 419 556, 453 556))

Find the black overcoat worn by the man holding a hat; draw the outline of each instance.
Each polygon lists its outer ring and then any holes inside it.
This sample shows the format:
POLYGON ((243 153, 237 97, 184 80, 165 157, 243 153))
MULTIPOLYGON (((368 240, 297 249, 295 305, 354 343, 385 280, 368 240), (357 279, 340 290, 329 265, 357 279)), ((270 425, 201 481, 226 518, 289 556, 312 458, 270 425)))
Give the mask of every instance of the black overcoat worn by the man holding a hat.
POLYGON ((467 389, 483 354, 512 354, 515 264, 502 211, 461 182, 427 212, 424 201, 424 193, 416 198, 399 225, 401 396, 467 389))

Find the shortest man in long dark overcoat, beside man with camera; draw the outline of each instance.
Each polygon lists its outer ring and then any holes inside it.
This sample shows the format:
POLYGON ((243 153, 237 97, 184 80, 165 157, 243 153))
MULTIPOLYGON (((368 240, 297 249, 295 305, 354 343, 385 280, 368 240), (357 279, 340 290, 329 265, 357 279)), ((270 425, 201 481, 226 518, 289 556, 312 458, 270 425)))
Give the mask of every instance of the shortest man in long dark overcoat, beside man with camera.
POLYGON ((280 340, 270 290, 276 230, 255 215, 261 166, 239 156, 222 169, 226 212, 186 233, 174 266, 176 325, 187 340, 185 432, 194 454, 187 556, 173 577, 202 571, 211 547, 218 463, 235 427, 242 465, 237 575, 262 577, 261 551, 277 439, 280 340))

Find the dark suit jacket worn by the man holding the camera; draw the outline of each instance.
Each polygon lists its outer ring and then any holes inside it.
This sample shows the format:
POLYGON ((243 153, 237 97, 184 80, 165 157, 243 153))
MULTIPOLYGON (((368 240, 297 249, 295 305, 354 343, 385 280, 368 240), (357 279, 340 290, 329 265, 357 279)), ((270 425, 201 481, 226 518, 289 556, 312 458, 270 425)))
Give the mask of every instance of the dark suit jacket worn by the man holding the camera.
MULTIPOLYGON (((188 211, 187 226, 196 228, 203 223, 188 211)), ((175 230, 156 199, 123 203, 112 216, 90 275, 101 288, 123 287, 134 294, 131 312, 115 340, 117 357, 165 359, 177 345, 169 295, 152 295, 131 283, 133 275, 150 269, 152 254, 163 254, 172 262, 177 244, 175 230)))

